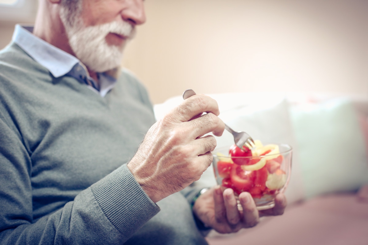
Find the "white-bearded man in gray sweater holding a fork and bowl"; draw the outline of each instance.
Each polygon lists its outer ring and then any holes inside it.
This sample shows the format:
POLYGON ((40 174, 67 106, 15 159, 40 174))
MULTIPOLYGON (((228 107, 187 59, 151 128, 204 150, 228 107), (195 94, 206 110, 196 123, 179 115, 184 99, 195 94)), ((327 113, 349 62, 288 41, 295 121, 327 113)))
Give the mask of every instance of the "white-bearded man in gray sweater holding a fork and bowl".
POLYGON ((34 28, 16 26, 0 53, 2 245, 206 244, 201 230, 283 213, 283 195, 262 213, 244 192, 239 211, 231 189, 192 184, 224 123, 203 95, 155 122, 118 69, 144 22, 143 0, 40 0, 34 28))

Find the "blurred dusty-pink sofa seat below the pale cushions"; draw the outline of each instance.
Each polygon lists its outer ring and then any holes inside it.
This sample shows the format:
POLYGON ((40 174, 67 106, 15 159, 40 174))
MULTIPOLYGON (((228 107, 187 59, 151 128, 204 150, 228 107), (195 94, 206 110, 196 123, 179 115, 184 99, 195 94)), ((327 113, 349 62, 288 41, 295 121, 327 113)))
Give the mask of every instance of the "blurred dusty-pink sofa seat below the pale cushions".
POLYGON ((355 194, 326 195, 288 206, 284 215, 266 217, 237 234, 210 233, 210 245, 368 244, 368 203, 355 194))

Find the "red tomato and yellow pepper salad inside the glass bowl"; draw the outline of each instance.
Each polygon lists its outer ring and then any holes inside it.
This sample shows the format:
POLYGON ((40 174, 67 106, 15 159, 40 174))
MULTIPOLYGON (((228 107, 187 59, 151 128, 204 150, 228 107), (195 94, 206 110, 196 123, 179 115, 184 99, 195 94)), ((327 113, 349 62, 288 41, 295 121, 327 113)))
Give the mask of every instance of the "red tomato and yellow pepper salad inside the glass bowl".
POLYGON ((253 198, 275 195, 286 183, 286 172, 280 169, 284 157, 278 145, 263 145, 255 140, 254 147, 248 145, 240 149, 234 144, 228 156, 217 153, 217 158, 222 186, 233 189, 236 195, 243 191, 253 198))

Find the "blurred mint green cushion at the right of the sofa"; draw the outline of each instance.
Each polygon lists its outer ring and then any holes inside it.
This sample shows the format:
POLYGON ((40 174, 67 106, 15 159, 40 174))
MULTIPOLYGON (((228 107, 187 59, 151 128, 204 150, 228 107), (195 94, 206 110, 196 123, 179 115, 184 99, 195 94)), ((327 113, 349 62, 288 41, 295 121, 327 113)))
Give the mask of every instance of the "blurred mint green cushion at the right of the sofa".
POLYGON ((365 142, 350 101, 308 104, 290 112, 307 198, 368 183, 365 142))

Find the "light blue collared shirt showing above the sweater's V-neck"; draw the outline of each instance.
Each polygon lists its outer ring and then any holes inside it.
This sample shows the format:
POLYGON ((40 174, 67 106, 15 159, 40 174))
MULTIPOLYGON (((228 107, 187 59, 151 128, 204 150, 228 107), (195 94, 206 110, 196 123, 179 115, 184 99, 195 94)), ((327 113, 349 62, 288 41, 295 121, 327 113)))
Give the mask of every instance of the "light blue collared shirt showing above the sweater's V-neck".
POLYGON ((45 40, 32 34, 32 26, 16 25, 13 42, 20 46, 35 61, 45 66, 55 78, 72 76, 81 83, 85 83, 91 90, 104 97, 115 85, 116 78, 97 73, 99 84, 89 76, 85 66, 76 57, 47 43, 45 40))

